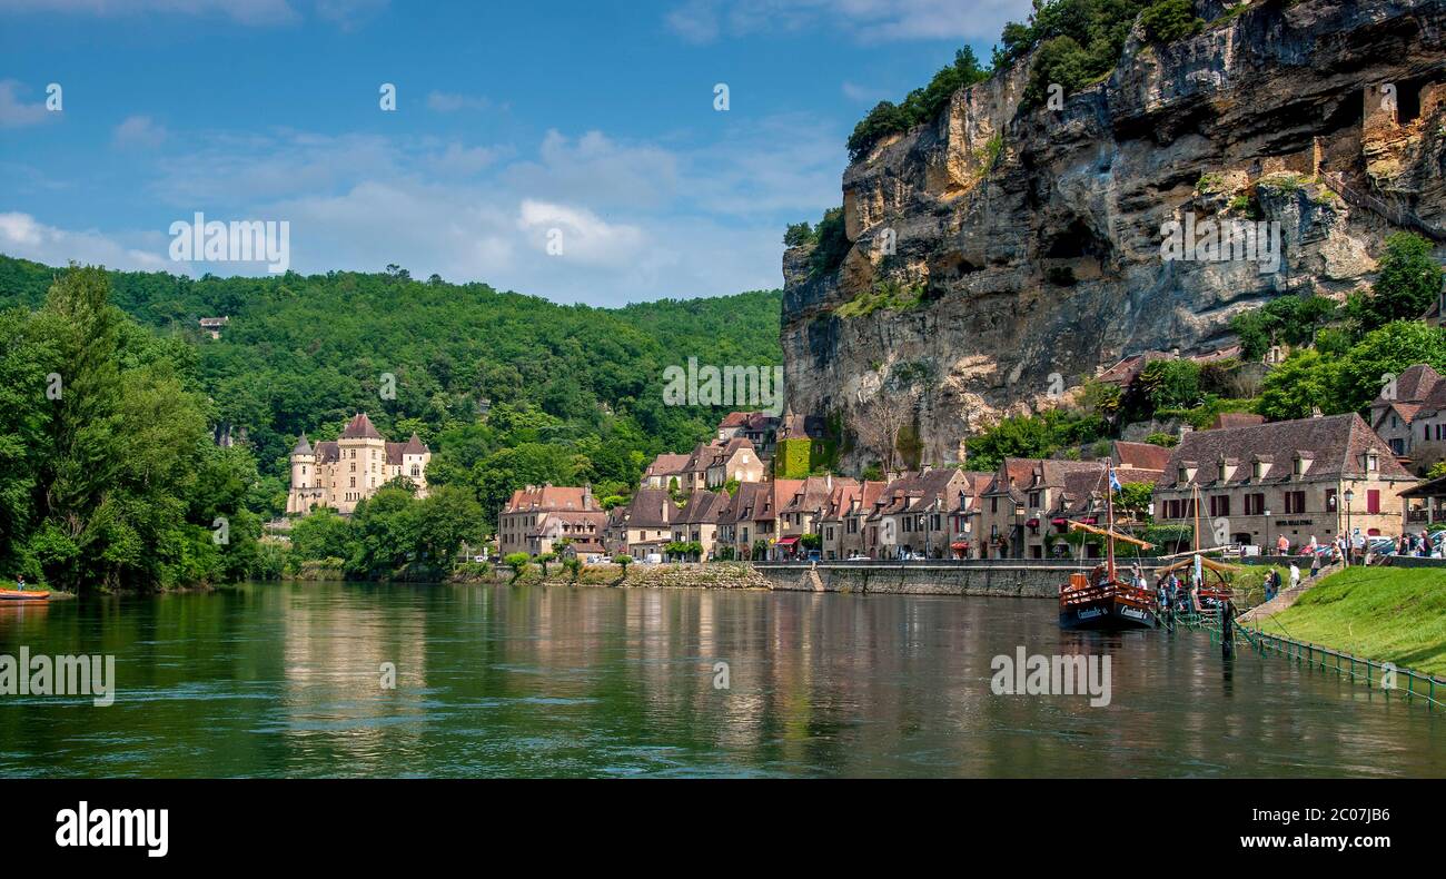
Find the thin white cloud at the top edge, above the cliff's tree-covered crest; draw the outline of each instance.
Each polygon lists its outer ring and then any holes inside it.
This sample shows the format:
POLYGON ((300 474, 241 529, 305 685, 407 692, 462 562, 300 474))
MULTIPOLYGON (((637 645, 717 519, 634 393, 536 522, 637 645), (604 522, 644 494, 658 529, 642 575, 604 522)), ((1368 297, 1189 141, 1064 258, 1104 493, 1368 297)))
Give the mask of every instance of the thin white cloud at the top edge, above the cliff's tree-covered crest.
POLYGON ((1031 0, 687 0, 664 16, 688 42, 836 26, 859 42, 996 39, 1031 0))

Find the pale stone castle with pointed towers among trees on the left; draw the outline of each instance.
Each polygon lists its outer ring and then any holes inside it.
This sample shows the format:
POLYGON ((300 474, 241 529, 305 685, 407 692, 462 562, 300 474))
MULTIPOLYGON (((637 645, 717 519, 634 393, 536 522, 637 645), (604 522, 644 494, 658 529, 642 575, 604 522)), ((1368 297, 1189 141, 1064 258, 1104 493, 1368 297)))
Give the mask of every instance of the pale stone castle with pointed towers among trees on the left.
POLYGON ((405 476, 427 496, 427 463, 432 450, 416 434, 406 442, 388 442, 372 426, 366 412, 356 415, 335 441, 312 448, 307 434, 291 450, 291 493, 286 513, 308 513, 330 506, 350 515, 359 500, 376 493, 389 480, 405 476))

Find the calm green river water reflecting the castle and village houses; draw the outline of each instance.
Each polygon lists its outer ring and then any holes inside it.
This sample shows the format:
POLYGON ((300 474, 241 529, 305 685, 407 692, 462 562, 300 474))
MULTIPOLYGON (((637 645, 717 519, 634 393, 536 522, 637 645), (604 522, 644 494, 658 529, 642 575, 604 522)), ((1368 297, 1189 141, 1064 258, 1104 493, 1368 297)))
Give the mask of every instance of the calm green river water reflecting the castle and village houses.
POLYGON ((116 697, 0 695, 0 776, 1446 776, 1440 710, 1038 599, 272 583, 0 607, 22 646, 116 697), (1021 646, 1109 704, 996 695, 1021 646))

